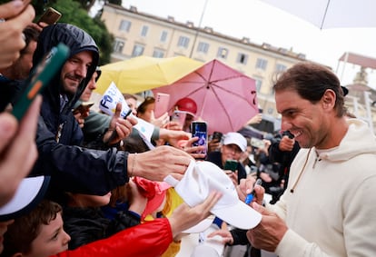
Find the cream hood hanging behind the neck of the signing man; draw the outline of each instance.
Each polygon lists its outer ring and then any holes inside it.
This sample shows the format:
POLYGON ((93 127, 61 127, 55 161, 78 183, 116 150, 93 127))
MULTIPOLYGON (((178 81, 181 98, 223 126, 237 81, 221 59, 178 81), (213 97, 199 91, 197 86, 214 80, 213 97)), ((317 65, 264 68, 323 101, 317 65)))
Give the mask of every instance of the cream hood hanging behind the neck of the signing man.
POLYGON ((361 153, 376 153, 376 137, 368 124, 358 119, 349 119, 347 123, 349 130, 340 145, 321 153, 320 159, 336 162, 349 160, 361 153))

